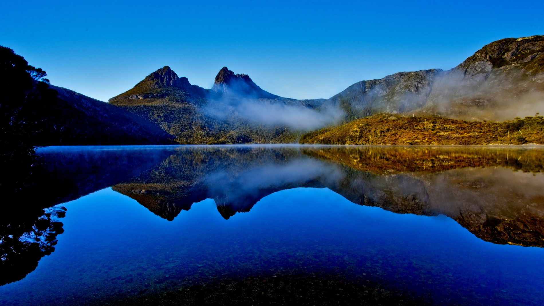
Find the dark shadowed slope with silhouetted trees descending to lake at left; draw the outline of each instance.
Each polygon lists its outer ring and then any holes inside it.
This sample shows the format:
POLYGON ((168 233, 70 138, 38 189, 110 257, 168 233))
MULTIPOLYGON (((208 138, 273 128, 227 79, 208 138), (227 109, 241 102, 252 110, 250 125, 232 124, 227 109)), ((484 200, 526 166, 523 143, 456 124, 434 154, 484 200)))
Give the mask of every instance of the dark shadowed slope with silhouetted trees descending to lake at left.
POLYGON ((17 146, 161 144, 171 136, 124 109, 48 84, 45 71, 0 47, 1 142, 17 146))

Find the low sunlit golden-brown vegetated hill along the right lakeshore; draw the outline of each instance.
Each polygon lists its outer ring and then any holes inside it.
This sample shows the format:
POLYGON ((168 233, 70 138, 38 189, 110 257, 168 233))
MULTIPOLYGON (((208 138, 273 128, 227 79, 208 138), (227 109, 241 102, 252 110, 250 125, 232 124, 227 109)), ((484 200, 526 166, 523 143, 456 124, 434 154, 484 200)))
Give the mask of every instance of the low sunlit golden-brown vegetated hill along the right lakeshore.
POLYGON ((304 134, 300 143, 357 145, 544 144, 544 117, 502 123, 378 114, 304 134))

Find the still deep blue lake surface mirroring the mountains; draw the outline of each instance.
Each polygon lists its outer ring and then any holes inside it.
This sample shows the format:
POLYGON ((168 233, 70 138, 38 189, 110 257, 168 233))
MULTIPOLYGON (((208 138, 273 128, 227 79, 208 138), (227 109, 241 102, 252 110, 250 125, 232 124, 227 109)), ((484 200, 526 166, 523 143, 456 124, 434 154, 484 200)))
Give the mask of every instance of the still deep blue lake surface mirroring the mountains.
POLYGON ((544 149, 37 154, 41 166, 0 218, 0 305, 153 304, 240 281, 267 284, 258 293, 273 298, 276 279, 438 305, 544 304, 544 149))

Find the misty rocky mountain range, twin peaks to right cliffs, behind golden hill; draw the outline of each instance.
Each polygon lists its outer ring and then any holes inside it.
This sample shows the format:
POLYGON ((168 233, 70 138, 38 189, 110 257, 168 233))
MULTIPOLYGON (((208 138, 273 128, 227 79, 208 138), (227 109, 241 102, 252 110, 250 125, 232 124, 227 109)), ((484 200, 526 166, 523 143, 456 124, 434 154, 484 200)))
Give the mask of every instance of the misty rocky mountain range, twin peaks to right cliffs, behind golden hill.
POLYGON ((544 36, 494 41, 453 69, 361 81, 330 99, 280 97, 226 67, 203 89, 165 66, 109 102, 179 143, 294 142, 302 132, 380 113, 511 120, 544 107, 544 36), (304 120, 314 125, 300 125, 304 120))

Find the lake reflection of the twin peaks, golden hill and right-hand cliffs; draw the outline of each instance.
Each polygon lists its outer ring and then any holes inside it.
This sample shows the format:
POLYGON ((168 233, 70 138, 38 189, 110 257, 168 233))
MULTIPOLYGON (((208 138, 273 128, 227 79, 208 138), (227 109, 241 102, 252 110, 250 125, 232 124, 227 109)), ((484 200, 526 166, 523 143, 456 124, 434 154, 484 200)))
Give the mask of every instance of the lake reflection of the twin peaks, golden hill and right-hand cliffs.
POLYGON ((172 220, 207 198, 228 219, 283 189, 326 187, 359 205, 446 215, 485 241, 542 247, 544 176, 523 172, 543 165, 536 149, 181 148, 113 189, 172 220))

